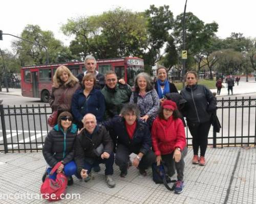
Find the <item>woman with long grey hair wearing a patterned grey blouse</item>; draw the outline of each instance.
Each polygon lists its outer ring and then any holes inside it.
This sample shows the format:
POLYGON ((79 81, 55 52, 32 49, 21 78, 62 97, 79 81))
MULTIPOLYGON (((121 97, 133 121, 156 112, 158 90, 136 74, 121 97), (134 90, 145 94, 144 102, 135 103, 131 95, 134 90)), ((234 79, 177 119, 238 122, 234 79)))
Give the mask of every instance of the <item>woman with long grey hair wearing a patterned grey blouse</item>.
POLYGON ((137 104, 140 110, 140 119, 146 121, 150 127, 157 116, 160 105, 159 97, 153 89, 150 75, 141 72, 135 78, 135 91, 132 93, 130 103, 137 104))

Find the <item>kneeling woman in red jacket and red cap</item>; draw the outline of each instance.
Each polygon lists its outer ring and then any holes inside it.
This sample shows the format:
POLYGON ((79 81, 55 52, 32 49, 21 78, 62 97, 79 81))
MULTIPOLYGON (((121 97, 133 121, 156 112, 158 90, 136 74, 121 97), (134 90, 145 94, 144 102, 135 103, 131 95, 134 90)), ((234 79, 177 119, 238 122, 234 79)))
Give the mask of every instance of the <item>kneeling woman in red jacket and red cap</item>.
POLYGON ((174 166, 176 167, 178 181, 175 184, 175 193, 183 191, 184 157, 187 154, 184 125, 179 117, 176 103, 164 100, 152 126, 152 145, 157 156, 157 165, 163 161, 169 176, 174 175, 174 166))

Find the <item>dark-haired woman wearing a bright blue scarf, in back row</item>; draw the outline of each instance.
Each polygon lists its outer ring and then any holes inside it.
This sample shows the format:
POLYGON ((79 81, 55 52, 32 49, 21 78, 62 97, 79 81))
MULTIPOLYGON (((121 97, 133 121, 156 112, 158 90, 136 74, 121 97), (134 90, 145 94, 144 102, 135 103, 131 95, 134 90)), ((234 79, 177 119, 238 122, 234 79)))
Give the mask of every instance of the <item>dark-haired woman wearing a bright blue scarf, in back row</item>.
POLYGON ((176 86, 167 80, 167 69, 164 66, 157 68, 157 81, 155 89, 160 98, 160 103, 163 102, 166 93, 178 93, 176 86))

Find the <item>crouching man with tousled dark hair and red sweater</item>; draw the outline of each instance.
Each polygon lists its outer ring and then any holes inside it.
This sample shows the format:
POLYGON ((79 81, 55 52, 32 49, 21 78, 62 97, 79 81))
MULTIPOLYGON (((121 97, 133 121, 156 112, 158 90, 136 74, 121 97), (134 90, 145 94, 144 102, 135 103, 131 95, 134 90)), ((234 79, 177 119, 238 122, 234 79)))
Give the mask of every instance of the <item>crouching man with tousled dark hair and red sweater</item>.
POLYGON ((139 117, 139 109, 136 104, 125 104, 121 110, 121 116, 103 122, 106 129, 113 129, 116 135, 115 163, 119 166, 121 177, 127 175, 132 153, 136 154, 132 165, 139 169, 141 175, 145 176, 145 169, 156 161, 155 154, 151 150, 150 129, 147 123, 140 120, 139 117))

